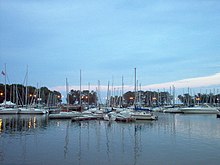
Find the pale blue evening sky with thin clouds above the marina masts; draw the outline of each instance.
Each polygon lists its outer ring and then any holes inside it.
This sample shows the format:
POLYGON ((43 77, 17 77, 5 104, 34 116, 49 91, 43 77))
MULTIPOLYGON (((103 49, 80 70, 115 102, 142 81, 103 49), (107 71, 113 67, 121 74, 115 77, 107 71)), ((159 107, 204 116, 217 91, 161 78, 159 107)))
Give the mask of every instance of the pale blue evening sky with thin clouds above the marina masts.
MULTIPOLYGON (((219 0, 0 0, 0 69, 51 90, 220 89, 219 0), (27 69, 28 68, 28 69, 27 69)), ((1 76, 1 82, 4 77, 1 76)), ((220 91, 220 90, 219 90, 220 91)))

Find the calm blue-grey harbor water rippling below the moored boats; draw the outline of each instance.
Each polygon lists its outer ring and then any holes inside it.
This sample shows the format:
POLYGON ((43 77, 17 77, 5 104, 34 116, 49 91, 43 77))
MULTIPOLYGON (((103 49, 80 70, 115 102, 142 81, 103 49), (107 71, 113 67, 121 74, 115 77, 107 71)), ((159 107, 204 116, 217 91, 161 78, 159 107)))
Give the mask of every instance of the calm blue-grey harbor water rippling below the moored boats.
POLYGON ((0 116, 0 164, 219 164, 216 115, 158 116, 134 123, 0 116))

